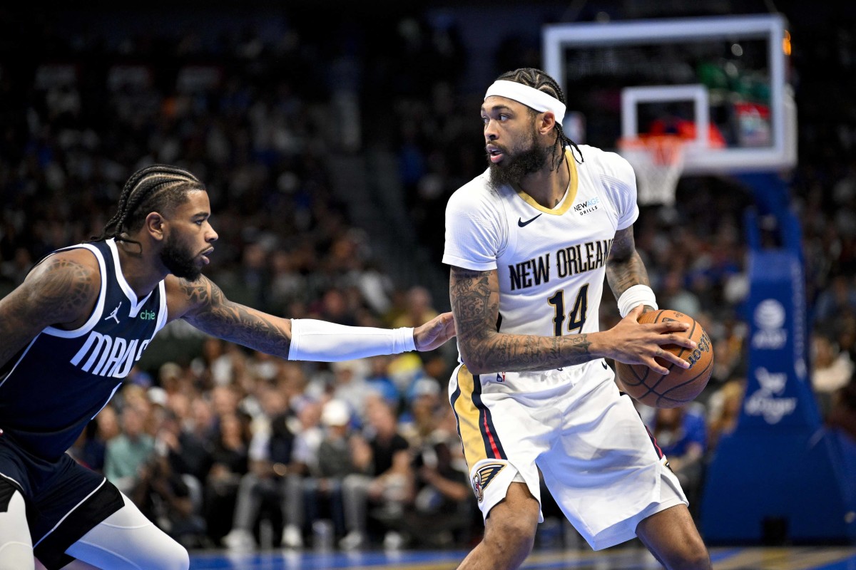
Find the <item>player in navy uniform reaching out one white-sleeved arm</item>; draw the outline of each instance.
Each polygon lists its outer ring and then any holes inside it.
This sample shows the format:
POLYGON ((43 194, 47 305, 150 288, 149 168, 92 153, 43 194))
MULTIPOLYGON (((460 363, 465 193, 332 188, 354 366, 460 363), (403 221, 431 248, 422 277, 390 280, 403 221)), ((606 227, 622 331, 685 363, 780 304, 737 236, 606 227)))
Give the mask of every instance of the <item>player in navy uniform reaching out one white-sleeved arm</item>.
POLYGON ((232 303, 201 274, 217 232, 208 194, 177 167, 134 173, 91 243, 58 250, 0 300, 0 570, 186 570, 187 551, 65 450, 155 333, 199 330, 290 360, 433 350, 451 314, 415 329, 285 319, 232 303))

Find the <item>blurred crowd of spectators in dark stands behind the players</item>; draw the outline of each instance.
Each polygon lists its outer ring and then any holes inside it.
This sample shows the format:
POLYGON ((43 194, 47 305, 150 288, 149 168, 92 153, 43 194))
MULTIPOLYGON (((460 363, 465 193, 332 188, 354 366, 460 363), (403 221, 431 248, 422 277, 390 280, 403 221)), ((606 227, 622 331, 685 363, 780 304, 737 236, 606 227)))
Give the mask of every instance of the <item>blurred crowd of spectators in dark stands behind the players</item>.
MULTIPOLYGON (((574 17, 619 4, 574 3, 574 17)), ((322 18, 317 6, 208 3, 203 24, 188 5, 0 8, 0 291, 98 234, 128 175, 165 162, 207 185, 220 238, 206 274, 229 298, 345 325, 414 326, 448 310, 443 210, 485 167, 481 94, 499 73, 541 65, 538 26, 567 21, 568 6, 342 5, 322 18), (496 26, 477 30, 480 18, 496 26)), ((800 163, 788 185, 811 377, 824 420, 856 437, 853 9, 777 8, 794 38, 800 163)), ((698 401, 640 409, 691 500, 740 412, 752 206, 734 180, 687 178, 674 208, 645 207, 635 224, 661 307, 695 316, 715 346, 698 401)), ((619 318, 609 291, 600 318, 619 318)), ((470 544, 480 514, 445 394, 456 356, 450 343, 286 362, 177 322, 69 453, 191 548, 470 544)), ((544 493, 539 539, 555 540, 544 493)))

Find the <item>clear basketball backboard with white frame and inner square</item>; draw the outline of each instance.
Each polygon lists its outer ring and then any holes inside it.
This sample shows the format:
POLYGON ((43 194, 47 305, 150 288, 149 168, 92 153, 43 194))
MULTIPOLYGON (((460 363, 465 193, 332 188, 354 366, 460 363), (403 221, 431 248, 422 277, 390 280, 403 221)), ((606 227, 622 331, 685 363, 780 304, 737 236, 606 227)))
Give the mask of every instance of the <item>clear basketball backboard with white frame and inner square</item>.
POLYGON ((794 167, 782 15, 552 24, 542 38, 576 142, 615 150, 640 132, 679 133, 684 173, 794 167))

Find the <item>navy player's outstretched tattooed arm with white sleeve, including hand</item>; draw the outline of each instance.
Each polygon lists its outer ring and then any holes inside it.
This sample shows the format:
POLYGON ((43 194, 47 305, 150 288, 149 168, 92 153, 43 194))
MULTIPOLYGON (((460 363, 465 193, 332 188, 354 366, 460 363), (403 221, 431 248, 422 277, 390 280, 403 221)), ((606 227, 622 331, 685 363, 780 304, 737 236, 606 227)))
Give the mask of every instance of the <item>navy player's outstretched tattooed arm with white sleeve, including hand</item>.
MULTIPOLYGON (((276 317, 240 303, 233 303, 223 295, 223 291, 217 285, 204 276, 190 282, 170 275, 167 277, 167 297, 169 320, 183 318, 200 331, 215 337, 242 344, 269 355, 288 358, 293 338, 290 319, 276 317)), ((309 321, 312 322, 312 320, 309 321)), ((390 347, 385 340, 389 337, 388 333, 392 332, 388 329, 339 326, 324 323, 324 321, 313 322, 316 323, 314 336, 316 339, 324 337, 323 344, 314 342, 312 344, 315 348, 310 348, 309 352, 306 352, 306 347, 300 347, 295 340, 294 352, 299 355, 309 355, 306 358, 296 356, 298 360, 348 360, 358 357, 352 354, 353 351, 360 353, 360 356, 377 356, 407 350, 401 348, 401 345, 397 350, 395 346, 390 347), (324 329, 323 331, 317 330, 318 324, 324 329), (335 348, 327 350, 325 347, 330 344, 348 346, 340 347, 338 350, 335 348)), ((294 333, 300 338, 297 325, 294 326, 294 333)), ((399 329, 399 331, 408 337, 411 334, 408 329, 399 329)), ((443 313, 415 327, 412 334, 413 347, 416 350, 434 350, 455 336, 455 320, 451 313, 443 313)), ((294 355, 292 357, 295 358, 294 355)))

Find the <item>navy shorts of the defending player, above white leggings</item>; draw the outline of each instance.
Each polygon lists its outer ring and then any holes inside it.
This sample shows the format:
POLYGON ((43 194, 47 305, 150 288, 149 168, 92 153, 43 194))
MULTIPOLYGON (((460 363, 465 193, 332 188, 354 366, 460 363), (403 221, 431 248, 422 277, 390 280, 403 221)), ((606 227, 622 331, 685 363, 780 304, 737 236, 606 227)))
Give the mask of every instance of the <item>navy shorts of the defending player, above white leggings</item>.
POLYGON ((48 570, 74 560, 65 550, 124 506, 122 494, 104 475, 67 454, 54 461, 40 458, 8 434, 0 435, 0 479, 23 494, 33 551, 48 570))

